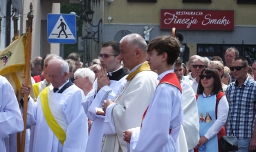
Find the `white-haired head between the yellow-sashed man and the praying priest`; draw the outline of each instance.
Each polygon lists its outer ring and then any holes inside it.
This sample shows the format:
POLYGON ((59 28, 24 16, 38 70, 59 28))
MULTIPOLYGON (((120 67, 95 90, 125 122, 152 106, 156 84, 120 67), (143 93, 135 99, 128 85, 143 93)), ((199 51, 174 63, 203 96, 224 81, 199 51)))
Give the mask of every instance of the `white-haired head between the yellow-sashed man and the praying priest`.
POLYGON ((78 68, 74 73, 75 85, 87 95, 93 88, 95 74, 89 68, 78 68))

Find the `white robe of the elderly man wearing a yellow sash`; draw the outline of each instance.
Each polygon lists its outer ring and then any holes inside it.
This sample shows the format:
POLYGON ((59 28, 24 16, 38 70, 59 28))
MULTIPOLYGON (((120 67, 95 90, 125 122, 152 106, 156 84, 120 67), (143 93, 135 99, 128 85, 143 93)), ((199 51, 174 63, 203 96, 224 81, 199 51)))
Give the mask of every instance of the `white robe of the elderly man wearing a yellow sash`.
MULTIPOLYGON (((69 83, 68 81, 66 84, 69 83)), ((59 91, 62 89, 60 86, 59 91)), ((55 115, 55 111, 51 109, 51 112, 55 116, 64 115, 66 119, 62 126, 62 129, 66 133, 66 139, 62 145, 55 133, 51 130, 48 122, 46 122, 44 111, 42 108, 41 95, 37 98, 37 102, 28 102, 28 121, 29 126, 35 125, 35 135, 33 141, 33 151, 37 152, 84 152, 86 149, 88 139, 88 124, 87 117, 81 106, 82 99, 84 99, 84 93, 80 88, 75 85, 71 85, 63 93, 53 93, 53 86, 48 88, 48 101, 49 108, 51 107, 50 101, 55 101, 55 108, 57 111, 61 111, 60 115, 55 115), (66 126, 64 125, 66 124, 66 126)), ((55 117, 54 116, 54 117, 55 117)), ((63 118, 63 117, 62 117, 63 118)), ((57 117, 55 117, 57 119, 57 117)))

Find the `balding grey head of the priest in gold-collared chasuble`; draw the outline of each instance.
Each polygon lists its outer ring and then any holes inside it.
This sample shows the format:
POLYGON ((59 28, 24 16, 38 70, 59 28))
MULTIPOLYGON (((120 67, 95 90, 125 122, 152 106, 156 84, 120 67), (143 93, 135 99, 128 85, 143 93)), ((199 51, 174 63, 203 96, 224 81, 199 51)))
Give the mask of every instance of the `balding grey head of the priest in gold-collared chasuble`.
POLYGON ((120 59, 125 68, 131 70, 147 59, 147 43, 138 34, 126 35, 120 41, 120 59))

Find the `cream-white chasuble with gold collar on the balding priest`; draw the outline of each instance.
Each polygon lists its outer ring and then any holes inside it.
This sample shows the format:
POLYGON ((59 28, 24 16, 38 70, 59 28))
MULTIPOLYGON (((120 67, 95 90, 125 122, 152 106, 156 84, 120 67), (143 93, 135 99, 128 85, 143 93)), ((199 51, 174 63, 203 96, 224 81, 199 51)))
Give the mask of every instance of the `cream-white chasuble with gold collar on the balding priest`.
POLYGON ((105 135, 103 152, 127 151, 127 143, 122 140, 122 131, 140 126, 141 117, 151 102, 158 84, 157 77, 157 73, 150 70, 147 61, 129 73, 126 78, 127 84, 118 95, 115 101, 117 104, 112 109, 113 122, 110 124, 114 124, 116 134, 105 135))

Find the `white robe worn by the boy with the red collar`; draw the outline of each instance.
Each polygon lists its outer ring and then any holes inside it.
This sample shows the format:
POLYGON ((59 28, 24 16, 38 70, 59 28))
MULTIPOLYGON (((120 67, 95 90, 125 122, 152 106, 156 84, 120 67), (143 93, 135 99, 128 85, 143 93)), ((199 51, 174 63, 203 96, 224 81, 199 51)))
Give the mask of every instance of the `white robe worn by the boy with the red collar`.
MULTIPOLYGON (((162 73, 158 76, 158 80, 169 73, 173 73, 173 70, 162 73)), ((181 102, 179 88, 167 83, 158 84, 145 113, 141 130, 140 127, 131 129, 133 133, 130 152, 176 152, 175 143, 183 122, 181 102), (172 129, 171 133, 170 129, 172 129)))

